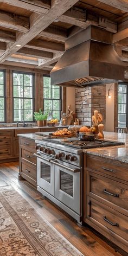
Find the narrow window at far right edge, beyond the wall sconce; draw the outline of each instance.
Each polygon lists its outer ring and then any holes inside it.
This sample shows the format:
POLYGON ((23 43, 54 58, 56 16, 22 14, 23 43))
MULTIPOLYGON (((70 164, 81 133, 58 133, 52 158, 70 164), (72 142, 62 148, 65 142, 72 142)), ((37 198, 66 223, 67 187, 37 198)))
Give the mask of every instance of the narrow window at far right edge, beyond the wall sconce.
POLYGON ((120 83, 118 85, 118 127, 127 127, 127 94, 127 84, 125 82, 120 83))

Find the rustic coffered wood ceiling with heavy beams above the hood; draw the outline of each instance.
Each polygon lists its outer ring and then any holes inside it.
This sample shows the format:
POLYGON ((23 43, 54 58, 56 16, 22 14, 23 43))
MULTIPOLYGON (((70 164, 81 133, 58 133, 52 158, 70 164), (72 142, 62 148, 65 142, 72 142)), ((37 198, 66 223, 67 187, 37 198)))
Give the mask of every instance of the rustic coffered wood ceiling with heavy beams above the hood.
POLYGON ((91 24, 113 33, 128 66, 127 0, 0 0, 0 64, 50 71, 66 39, 91 24))

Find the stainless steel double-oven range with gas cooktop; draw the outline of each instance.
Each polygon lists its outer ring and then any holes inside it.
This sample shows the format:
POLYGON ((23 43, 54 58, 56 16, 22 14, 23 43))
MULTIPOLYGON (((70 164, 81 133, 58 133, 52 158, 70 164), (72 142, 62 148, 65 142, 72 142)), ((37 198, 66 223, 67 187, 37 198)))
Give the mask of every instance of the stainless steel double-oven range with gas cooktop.
POLYGON ((37 190, 77 221, 82 216, 83 149, 122 145, 120 142, 78 138, 36 140, 37 190))

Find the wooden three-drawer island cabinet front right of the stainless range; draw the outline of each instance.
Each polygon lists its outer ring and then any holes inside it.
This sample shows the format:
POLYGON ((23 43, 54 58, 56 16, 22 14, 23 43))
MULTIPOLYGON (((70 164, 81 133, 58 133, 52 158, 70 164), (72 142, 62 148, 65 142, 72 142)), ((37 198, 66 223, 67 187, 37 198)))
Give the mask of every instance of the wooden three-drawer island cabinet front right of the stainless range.
POLYGON ((127 163, 84 154, 84 222, 128 253, 127 163))

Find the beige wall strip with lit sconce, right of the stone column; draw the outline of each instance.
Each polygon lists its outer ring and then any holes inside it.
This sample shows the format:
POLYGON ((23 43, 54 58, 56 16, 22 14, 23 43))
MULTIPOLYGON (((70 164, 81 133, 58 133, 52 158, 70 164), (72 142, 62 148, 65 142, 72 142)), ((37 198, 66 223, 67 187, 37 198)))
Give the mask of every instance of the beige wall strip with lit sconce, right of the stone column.
POLYGON ((106 85, 106 125, 105 131, 114 131, 114 84, 106 85), (111 86, 111 88, 110 88, 111 86), (107 98, 108 89, 110 88, 111 98, 107 98))

